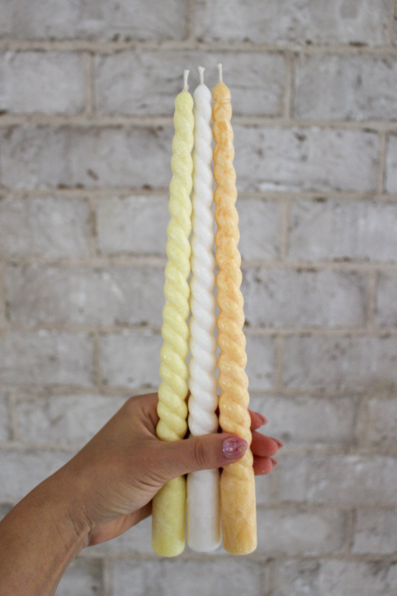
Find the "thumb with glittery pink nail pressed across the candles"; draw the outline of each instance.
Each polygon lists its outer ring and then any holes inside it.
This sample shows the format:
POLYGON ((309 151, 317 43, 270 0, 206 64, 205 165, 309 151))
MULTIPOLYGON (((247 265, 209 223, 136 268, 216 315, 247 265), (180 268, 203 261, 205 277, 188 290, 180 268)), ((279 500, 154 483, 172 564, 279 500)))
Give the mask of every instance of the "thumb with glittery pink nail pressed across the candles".
POLYGON ((225 467, 242 458, 248 449, 244 439, 231 433, 202 434, 162 444, 166 481, 197 470, 225 467))

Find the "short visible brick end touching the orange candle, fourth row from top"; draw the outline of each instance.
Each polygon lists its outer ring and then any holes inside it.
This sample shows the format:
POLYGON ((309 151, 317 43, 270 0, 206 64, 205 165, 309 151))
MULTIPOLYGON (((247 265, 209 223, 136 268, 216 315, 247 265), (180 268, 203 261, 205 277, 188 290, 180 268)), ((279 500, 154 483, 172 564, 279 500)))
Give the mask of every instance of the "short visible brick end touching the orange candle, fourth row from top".
POLYGON ((237 201, 239 250, 243 259, 277 259, 280 256, 280 206, 277 201, 246 198, 237 201))

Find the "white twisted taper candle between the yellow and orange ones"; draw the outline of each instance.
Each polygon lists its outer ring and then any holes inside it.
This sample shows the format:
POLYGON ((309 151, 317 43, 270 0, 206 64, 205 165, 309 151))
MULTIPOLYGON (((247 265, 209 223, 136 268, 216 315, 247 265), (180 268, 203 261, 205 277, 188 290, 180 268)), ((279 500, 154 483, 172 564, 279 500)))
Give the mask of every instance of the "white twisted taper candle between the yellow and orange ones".
MULTIPOLYGON (((194 92, 195 117, 192 194, 192 278, 190 281, 189 430, 192 435, 216 433, 218 417, 215 377, 214 216, 212 215, 211 92, 204 85, 194 92)), ((187 542, 195 551, 215 550, 221 542, 219 470, 187 476, 187 542)))

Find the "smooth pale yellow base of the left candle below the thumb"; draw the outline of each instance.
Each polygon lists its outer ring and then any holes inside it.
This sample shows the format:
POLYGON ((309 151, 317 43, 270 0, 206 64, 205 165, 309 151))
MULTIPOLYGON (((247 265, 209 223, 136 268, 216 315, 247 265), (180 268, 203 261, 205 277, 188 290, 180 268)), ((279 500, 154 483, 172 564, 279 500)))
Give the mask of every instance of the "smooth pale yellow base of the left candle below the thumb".
POLYGON ((167 482, 153 498, 152 548, 161 557, 176 557, 185 550, 186 479, 167 482))

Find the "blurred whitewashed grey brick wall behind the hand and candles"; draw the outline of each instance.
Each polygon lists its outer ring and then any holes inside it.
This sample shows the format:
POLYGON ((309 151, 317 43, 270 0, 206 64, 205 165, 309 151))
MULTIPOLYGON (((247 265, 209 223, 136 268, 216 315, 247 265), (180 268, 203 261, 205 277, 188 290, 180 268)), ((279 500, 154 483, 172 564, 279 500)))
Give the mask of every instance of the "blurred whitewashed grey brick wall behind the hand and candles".
POLYGON ((0 513, 158 386, 173 100, 232 89, 258 550, 150 523, 59 596, 397 593, 394 0, 0 1, 0 513))

